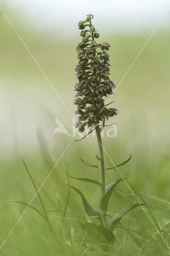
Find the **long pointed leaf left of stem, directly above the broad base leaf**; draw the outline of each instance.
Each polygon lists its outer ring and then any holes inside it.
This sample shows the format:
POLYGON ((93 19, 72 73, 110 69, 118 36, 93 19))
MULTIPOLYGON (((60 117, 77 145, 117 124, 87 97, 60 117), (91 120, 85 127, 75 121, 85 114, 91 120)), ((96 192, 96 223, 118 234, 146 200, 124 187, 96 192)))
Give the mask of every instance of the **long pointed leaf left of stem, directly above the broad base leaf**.
POLYGON ((78 188, 76 188, 74 186, 71 186, 69 184, 67 184, 67 186, 70 186, 71 188, 73 188, 73 190, 75 190, 81 196, 83 206, 84 206, 84 209, 85 209, 85 212, 87 213, 87 215, 89 217, 99 218, 101 221, 101 213, 87 202, 85 196, 83 196, 83 193, 78 188))

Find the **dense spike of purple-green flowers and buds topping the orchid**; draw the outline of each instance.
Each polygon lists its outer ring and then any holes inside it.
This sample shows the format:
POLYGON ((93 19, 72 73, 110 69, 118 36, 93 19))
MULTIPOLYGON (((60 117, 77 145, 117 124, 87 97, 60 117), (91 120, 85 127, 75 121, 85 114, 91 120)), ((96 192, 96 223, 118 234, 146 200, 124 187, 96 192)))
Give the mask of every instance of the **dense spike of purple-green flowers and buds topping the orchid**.
POLYGON ((79 42, 77 50, 76 77, 79 82, 75 84, 77 105, 76 114, 79 114, 75 125, 79 132, 83 132, 85 126, 89 128, 103 122, 105 118, 117 115, 115 108, 106 108, 104 97, 113 94, 112 88, 115 84, 109 79, 109 50, 107 42, 97 44, 95 38, 99 38, 99 33, 91 24, 93 15, 87 15, 86 20, 79 21, 82 41, 79 42), (89 29, 84 30, 89 27, 89 29), (100 48, 101 51, 97 51, 100 48))

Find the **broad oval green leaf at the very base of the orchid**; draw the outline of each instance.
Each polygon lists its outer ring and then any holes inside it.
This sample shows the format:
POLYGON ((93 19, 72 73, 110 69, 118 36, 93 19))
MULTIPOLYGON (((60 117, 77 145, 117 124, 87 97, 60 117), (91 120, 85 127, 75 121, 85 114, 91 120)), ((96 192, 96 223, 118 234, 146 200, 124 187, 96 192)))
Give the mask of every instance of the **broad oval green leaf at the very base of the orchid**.
MULTIPOLYGON (((101 225, 96 225, 93 223, 86 223, 81 225, 83 230, 87 231, 87 234, 91 238, 92 241, 96 241, 99 244, 115 244, 115 236, 111 232, 111 230, 105 228, 101 225)), ((102 246, 105 250, 108 249, 108 246, 102 246)))

